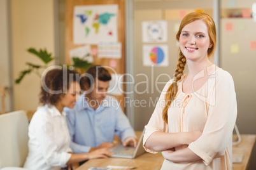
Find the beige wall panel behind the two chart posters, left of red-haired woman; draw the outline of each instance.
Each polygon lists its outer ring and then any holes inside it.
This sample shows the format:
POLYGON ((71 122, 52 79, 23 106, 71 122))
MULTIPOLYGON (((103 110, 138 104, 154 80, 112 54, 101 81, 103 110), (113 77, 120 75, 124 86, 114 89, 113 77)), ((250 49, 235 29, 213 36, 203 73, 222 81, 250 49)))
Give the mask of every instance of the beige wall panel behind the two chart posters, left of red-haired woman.
MULTIPOLYGON (((190 13, 197 9, 203 9, 205 12, 212 15, 212 1, 195 0, 191 4, 190 1, 141 1, 134 0, 134 84, 139 84, 141 81, 146 81, 143 76, 139 74, 146 74, 148 77, 148 93, 139 94, 145 91, 143 84, 134 88, 134 100, 145 100, 146 107, 134 107, 134 128, 142 130, 148 123, 157 99, 160 96, 160 91, 164 85, 169 81, 170 77, 176 70, 178 63, 178 45, 176 42, 176 27, 180 25, 181 17, 179 12, 186 11, 190 13), (144 21, 166 20, 167 22, 167 42, 143 42, 141 24, 144 21), (169 65, 167 67, 150 67, 143 65, 143 45, 167 45, 169 65), (169 77, 167 76, 169 75, 169 77), (160 77, 159 77, 160 76, 160 77), (157 79, 159 77, 159 79, 157 79), (155 84, 155 82, 162 82, 162 84, 155 84), (137 91, 138 92, 137 92, 137 91)), ((186 70, 185 70, 186 72, 186 70)))

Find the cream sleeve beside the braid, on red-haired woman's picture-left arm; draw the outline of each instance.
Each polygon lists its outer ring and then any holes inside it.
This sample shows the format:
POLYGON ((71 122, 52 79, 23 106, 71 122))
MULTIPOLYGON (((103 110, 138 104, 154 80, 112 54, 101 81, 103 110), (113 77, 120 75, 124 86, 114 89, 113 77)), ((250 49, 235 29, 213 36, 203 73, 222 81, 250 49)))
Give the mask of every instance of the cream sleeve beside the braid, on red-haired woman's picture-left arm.
POLYGON ((145 148, 146 152, 150 152, 152 154, 158 153, 155 150, 152 150, 151 148, 146 148, 145 143, 146 140, 148 140, 149 136, 154 133, 155 131, 168 131, 168 125, 164 122, 162 119, 162 110, 165 106, 165 99, 164 96, 166 95, 166 91, 169 88, 169 86, 173 83, 173 80, 166 83, 166 86, 164 86, 164 89, 162 90, 162 93, 159 97, 159 101, 157 101, 157 105, 155 106, 155 110, 153 111, 153 114, 150 118, 150 121, 145 126, 145 133, 143 138, 143 147, 145 148))

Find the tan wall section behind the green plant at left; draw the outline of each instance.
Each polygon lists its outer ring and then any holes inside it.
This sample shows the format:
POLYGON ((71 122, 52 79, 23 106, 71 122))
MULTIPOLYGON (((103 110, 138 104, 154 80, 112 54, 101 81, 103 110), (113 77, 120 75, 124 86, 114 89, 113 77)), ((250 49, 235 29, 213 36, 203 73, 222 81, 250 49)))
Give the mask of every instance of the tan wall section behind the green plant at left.
MULTIPOLYGON (((25 62, 41 65, 28 48, 46 48, 54 55, 52 0, 11 0, 11 34, 13 77, 27 69, 25 62)), ((13 80, 14 81, 14 80, 13 80)), ((40 77, 30 74, 14 86, 15 110, 35 110, 38 107, 40 77)))

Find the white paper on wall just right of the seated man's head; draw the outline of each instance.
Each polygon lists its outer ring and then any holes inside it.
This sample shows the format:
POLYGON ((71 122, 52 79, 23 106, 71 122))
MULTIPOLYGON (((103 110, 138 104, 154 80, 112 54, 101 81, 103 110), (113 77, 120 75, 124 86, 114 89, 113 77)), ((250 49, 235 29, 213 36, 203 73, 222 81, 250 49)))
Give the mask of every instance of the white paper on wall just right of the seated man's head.
POLYGON ((110 87, 108 88, 108 94, 110 95, 122 95, 123 90, 123 79, 122 74, 111 74, 110 87))

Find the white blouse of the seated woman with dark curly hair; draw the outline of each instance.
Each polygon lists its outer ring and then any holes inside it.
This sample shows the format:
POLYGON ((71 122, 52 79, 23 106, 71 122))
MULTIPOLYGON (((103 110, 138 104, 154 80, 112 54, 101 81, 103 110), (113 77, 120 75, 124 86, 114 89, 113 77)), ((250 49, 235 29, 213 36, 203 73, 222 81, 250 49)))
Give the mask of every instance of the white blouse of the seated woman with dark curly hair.
POLYGON ((29 123, 29 155, 27 169, 61 169, 71 157, 70 136, 66 112, 60 114, 54 106, 38 108, 29 123))

